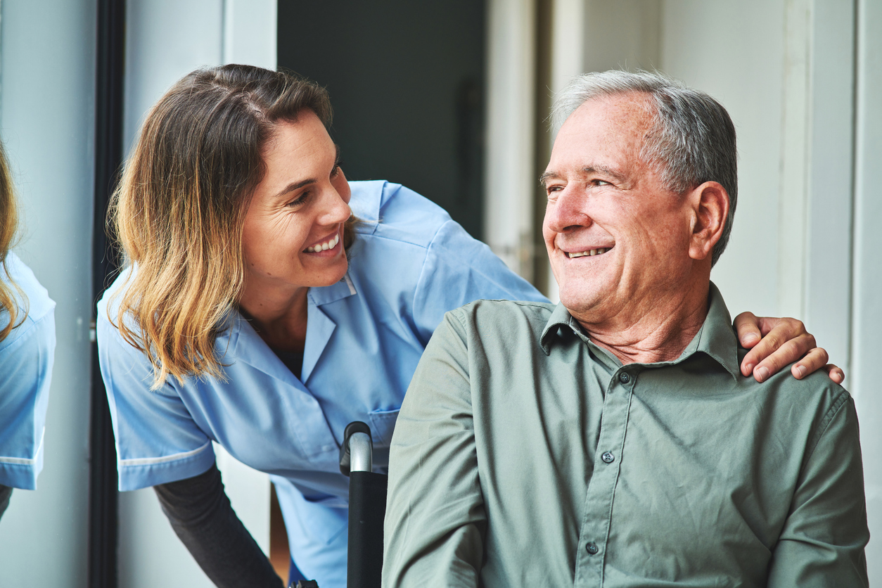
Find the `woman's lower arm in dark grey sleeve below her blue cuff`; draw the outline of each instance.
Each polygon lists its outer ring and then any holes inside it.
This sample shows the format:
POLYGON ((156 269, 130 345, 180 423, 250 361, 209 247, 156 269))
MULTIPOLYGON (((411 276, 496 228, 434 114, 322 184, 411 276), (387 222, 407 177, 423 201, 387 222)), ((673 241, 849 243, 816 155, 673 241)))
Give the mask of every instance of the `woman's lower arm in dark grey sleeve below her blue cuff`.
POLYGON ((230 505, 216 465, 153 489, 177 536, 215 585, 281 588, 280 577, 230 505))

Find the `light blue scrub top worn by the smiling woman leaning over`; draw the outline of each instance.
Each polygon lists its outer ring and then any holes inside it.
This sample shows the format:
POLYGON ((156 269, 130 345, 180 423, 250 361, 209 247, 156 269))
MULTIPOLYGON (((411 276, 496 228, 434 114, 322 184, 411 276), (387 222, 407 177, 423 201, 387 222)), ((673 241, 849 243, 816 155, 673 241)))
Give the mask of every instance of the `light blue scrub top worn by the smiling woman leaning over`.
POLYGON ((338 463, 346 425, 370 424, 374 465, 385 470, 401 400, 445 312, 481 298, 545 301, 413 190, 350 186, 363 222, 344 279, 308 293, 301 380, 236 313, 216 344, 227 382, 169 377, 150 391, 149 361, 108 321, 108 298, 125 275, 98 303, 120 490, 203 473, 214 462, 211 442, 221 443, 272 475, 292 559, 323 588, 346 585, 348 478, 338 463))

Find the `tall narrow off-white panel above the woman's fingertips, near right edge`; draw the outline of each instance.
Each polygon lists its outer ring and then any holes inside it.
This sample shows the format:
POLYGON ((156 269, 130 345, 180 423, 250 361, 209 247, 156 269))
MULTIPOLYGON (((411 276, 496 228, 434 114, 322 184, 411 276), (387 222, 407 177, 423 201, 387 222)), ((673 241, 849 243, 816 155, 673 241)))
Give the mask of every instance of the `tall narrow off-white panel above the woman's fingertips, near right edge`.
POLYGON ((805 324, 845 367, 851 364, 855 4, 814 0, 809 26, 805 324))

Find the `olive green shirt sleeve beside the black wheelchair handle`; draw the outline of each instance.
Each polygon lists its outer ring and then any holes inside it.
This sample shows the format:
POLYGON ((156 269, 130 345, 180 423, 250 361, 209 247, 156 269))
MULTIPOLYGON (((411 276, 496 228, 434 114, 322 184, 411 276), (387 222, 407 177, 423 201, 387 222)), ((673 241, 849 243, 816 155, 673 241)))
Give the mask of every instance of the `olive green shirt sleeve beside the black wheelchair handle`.
POLYGON ((392 435, 383 585, 476 586, 486 515, 467 345, 454 313, 422 355, 392 435))

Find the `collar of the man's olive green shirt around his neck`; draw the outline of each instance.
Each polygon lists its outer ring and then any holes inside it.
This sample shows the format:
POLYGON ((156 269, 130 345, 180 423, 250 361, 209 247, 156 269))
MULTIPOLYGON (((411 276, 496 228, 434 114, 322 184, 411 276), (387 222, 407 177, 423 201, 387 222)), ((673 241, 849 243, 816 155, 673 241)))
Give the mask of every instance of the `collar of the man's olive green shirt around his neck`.
MULTIPOLYGON (((729 316, 729 309, 722 300, 720 290, 710 283, 710 289, 707 294, 708 309, 704 324, 701 325, 699 332, 692 338, 689 345, 686 346, 683 353, 680 354, 675 361, 661 361, 654 363, 654 366, 672 365, 690 358, 693 354, 703 353, 717 361, 732 377, 740 376, 741 370, 738 365, 738 339, 735 330, 732 328, 732 319, 729 316)), ((539 339, 539 345, 546 355, 551 353, 551 345, 556 336, 560 335, 561 329, 572 331, 579 339, 586 343, 590 343, 582 326, 575 318, 572 317, 570 311, 564 308, 562 303, 557 304, 557 308, 551 313, 548 323, 542 330, 542 336, 539 339)))

